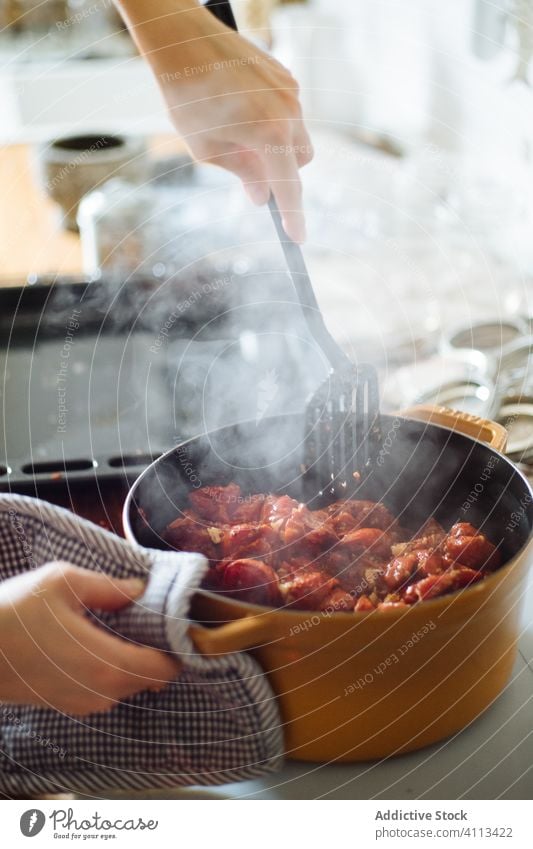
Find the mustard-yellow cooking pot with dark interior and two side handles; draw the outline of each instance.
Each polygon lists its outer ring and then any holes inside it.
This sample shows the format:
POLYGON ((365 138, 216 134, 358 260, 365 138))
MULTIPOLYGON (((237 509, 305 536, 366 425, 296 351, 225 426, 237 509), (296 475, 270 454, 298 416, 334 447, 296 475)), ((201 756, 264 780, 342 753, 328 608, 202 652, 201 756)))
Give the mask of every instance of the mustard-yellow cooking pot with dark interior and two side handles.
MULTIPOLYGON (((422 482, 430 480, 429 473, 437 474, 434 456, 441 457, 442 463, 448 458, 451 468, 447 468, 447 476, 439 473, 442 491, 428 490, 433 500, 440 495, 439 503, 453 501, 449 512, 457 519, 455 482, 461 490, 458 497, 462 509, 469 499, 473 502, 465 521, 475 518, 474 523, 481 525, 482 516, 488 517, 484 530, 492 539, 505 537, 503 549, 508 561, 485 580, 458 593, 404 609, 370 613, 273 610, 200 591, 193 615, 203 623, 217 623, 217 627, 192 626, 196 647, 209 655, 252 650, 278 696, 286 751, 291 758, 358 761, 434 743, 474 720, 494 701, 511 675, 533 515, 527 481, 497 453, 504 447, 505 431, 491 422, 442 408, 416 408, 409 418, 397 417, 395 421, 400 422, 398 430, 405 426, 405 438, 416 426, 413 444, 424 444, 430 438, 431 445, 437 446, 428 463, 429 472, 419 472, 422 482), (415 417, 427 424, 413 422, 415 417)), ((224 429, 224 445, 227 431, 224 429)), ((194 447, 194 443, 189 446, 194 447)), ((212 443, 210 435, 211 448, 212 443)), ((404 457, 411 456, 409 439, 407 443, 402 449, 404 457)), ((399 445, 397 449, 400 452, 399 445)), ((205 461, 205 446, 203 450, 205 461)), ((393 446, 391 456, 395 452, 393 446)), ((150 515, 153 504, 158 503, 157 497, 153 500, 154 467, 160 464, 158 479, 168 497, 169 462, 174 463, 174 474, 180 477, 175 456, 169 452, 156 461, 134 485, 124 511, 130 538, 154 544, 153 532, 158 535, 163 527, 158 528, 150 515), (152 538, 144 534, 143 539, 142 527, 147 521, 152 538)), ((405 470, 412 486, 416 464, 411 469, 405 461, 405 470)), ((387 474, 391 471, 394 467, 387 474)), ((214 470, 214 482, 220 482, 220 474, 220 469, 214 470)), ((183 475, 181 479, 183 484, 183 475)), ((205 471, 202 482, 211 482, 205 479, 205 471)), ((423 486, 421 483, 421 498, 423 486)), ((181 491, 176 492, 174 508, 182 496, 181 491)), ((428 514, 434 512, 434 503, 430 502, 428 495, 428 514)), ((418 509, 423 510, 424 505, 418 509)), ((166 519, 159 521, 166 523, 166 519)))

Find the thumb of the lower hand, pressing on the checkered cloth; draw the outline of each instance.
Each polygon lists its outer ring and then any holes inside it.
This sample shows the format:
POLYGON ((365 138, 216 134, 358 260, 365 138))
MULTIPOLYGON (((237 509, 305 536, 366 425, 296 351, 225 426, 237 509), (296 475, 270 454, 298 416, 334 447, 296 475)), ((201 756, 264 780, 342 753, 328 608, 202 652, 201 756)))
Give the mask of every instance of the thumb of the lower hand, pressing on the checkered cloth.
POLYGON ((70 592, 83 607, 120 610, 144 592, 141 578, 110 578, 89 569, 76 569, 68 575, 70 592))

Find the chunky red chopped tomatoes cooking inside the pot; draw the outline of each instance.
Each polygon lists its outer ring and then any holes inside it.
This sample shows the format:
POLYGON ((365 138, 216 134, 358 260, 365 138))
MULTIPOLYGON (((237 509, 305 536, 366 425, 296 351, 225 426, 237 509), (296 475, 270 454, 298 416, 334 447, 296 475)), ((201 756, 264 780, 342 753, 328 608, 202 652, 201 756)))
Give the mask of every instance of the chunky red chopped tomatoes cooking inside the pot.
POLYGON ((407 608, 468 587, 501 563, 467 522, 446 532, 431 518, 413 534, 379 502, 310 510, 288 495, 243 494, 235 483, 191 492, 164 535, 209 559, 210 590, 325 613, 407 608))

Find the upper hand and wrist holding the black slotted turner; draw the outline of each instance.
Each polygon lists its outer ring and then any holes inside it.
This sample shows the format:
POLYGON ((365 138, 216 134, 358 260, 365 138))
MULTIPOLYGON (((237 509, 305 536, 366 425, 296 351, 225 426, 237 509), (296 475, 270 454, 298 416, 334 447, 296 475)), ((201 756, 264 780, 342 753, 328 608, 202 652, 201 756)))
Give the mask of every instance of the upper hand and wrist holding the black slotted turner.
POLYGON ((313 149, 298 84, 195 0, 117 0, 193 155, 237 174, 254 203, 270 192, 288 235, 305 239, 298 169, 313 149))

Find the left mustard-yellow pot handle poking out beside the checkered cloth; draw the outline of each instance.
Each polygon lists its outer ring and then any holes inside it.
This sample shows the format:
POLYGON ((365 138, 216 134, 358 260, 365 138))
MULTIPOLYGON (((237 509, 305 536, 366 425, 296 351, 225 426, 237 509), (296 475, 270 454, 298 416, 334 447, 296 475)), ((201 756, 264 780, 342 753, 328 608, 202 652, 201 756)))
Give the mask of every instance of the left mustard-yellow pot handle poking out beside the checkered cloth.
POLYGON ((242 619, 234 619, 218 628, 204 628, 203 625, 189 626, 188 634, 194 647, 200 654, 229 654, 234 651, 257 646, 263 640, 272 638, 272 615, 250 614, 242 619))

